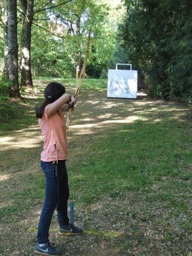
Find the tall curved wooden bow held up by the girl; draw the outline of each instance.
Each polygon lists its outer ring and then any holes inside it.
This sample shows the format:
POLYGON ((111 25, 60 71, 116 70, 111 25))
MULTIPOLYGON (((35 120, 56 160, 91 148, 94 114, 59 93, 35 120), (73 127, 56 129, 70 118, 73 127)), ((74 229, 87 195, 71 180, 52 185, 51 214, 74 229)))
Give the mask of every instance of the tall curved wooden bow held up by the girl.
MULTIPOLYGON (((83 82, 84 72, 85 72, 85 68, 86 68, 86 62, 88 60, 88 55, 89 55, 89 51, 90 51, 90 39, 91 39, 91 33, 89 33, 89 35, 88 35, 88 40, 87 40, 87 44, 86 44, 86 54, 85 54, 85 57, 84 57, 83 67, 81 69, 81 74, 79 76, 79 81, 78 81, 76 92, 75 92, 76 96, 78 95, 79 90, 81 88, 81 84, 83 82)), ((66 120, 67 129, 69 127, 69 124, 70 124, 73 113, 74 113, 74 107, 68 110, 67 120, 66 120)))

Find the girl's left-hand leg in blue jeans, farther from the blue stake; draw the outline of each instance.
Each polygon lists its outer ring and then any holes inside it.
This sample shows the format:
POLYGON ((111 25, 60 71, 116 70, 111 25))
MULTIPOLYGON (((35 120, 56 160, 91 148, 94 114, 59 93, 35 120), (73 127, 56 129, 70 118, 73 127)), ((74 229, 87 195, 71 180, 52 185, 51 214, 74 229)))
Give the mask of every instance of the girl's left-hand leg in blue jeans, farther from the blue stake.
POLYGON ((55 165, 52 162, 41 161, 41 167, 45 174, 45 201, 38 225, 37 243, 44 244, 49 239, 49 227, 58 197, 55 165))

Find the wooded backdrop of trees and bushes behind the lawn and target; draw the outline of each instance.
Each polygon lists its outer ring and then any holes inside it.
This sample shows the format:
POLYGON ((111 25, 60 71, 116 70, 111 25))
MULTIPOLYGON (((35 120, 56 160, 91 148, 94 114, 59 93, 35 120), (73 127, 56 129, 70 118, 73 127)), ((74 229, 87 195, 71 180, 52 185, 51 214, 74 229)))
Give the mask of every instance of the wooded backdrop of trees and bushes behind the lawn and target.
POLYGON ((78 77, 92 31, 86 77, 132 63, 152 97, 192 99, 190 0, 1 0, 1 99, 33 78, 78 77))

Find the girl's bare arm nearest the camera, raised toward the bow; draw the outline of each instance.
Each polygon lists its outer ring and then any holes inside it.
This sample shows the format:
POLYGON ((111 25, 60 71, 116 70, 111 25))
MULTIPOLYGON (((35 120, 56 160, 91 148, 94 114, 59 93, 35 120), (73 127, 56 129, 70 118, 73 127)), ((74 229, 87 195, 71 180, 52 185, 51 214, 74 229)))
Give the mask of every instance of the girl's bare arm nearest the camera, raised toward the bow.
MULTIPOLYGON (((51 117, 56 111, 58 111, 66 102, 70 101, 70 95, 64 93, 58 100, 47 105, 47 117, 51 117)), ((68 105, 68 104, 65 104, 68 105)))

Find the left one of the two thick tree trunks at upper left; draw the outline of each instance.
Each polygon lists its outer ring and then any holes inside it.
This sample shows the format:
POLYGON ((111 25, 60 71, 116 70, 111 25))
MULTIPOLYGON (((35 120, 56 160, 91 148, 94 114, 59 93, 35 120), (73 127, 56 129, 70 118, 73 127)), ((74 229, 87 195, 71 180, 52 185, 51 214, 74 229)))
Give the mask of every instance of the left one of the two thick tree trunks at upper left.
POLYGON ((17 0, 8 0, 8 72, 10 97, 20 97, 17 44, 17 0))

